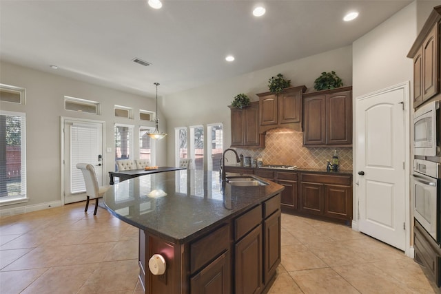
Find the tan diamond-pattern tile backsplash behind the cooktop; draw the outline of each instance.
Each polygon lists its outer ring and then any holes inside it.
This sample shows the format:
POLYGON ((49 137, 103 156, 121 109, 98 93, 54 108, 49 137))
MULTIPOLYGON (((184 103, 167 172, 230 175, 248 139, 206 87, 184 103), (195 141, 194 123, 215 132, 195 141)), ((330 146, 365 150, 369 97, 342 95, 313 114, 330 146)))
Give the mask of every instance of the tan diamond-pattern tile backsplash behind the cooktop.
POLYGON ((238 154, 262 158, 264 165, 297 165, 325 169, 337 151, 339 169, 352 169, 352 147, 303 147, 303 133, 277 128, 267 131, 265 149, 240 149, 238 154))

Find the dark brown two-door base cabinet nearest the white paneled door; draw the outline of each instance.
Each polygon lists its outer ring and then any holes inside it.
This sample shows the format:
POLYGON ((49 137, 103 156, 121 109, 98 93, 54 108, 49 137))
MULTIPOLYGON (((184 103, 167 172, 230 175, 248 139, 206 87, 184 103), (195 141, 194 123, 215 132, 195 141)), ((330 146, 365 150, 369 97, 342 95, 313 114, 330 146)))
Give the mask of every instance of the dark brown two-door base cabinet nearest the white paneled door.
POLYGON ((300 173, 301 213, 352 220, 352 176, 300 173))

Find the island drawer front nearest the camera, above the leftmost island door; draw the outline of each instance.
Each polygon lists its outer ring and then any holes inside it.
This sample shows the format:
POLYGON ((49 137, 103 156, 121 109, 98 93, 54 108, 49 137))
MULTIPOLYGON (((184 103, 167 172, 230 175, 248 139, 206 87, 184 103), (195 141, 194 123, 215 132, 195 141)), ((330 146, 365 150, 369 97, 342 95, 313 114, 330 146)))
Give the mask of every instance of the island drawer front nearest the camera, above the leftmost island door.
POLYGON ((193 274, 220 253, 229 249, 229 225, 225 225, 190 245, 190 271, 193 274))

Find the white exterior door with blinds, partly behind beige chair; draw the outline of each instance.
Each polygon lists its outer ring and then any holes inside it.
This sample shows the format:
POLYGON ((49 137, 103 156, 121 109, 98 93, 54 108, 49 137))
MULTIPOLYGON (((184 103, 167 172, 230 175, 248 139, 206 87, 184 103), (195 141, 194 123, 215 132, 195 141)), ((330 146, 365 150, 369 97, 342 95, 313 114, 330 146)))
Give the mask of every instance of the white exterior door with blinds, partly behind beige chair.
POLYGON ((63 127, 63 195, 65 203, 85 200, 83 174, 76 164, 94 165, 98 185, 103 185, 103 123, 66 118, 63 127))

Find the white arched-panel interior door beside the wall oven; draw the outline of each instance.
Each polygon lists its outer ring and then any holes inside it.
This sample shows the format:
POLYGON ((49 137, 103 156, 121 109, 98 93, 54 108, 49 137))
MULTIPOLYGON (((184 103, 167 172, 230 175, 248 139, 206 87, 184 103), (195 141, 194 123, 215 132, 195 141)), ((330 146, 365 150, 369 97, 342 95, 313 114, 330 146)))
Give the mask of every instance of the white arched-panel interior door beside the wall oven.
POLYGON ((397 87, 356 101, 358 229, 405 250, 404 97, 397 87))

